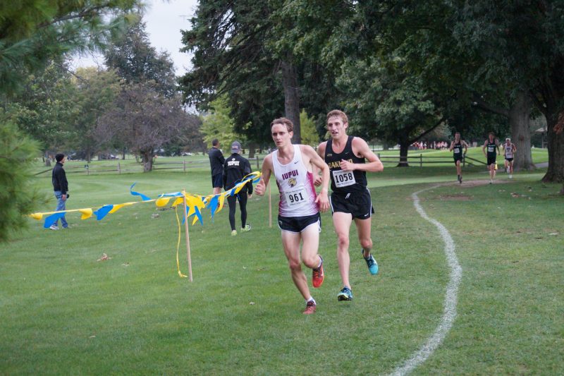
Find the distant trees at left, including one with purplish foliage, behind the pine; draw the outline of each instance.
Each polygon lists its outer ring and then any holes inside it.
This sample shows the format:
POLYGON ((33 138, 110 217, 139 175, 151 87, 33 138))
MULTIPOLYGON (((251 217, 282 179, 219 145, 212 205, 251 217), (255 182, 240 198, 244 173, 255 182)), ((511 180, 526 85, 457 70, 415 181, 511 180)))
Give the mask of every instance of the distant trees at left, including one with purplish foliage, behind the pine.
POLYGON ((144 23, 131 21, 104 58, 105 69, 72 72, 53 61, 28 75, 4 101, 6 119, 39 141, 45 154, 75 151, 90 162, 99 152, 128 150, 145 171, 161 147, 203 147, 200 119, 185 111, 173 63, 150 46, 144 23))

